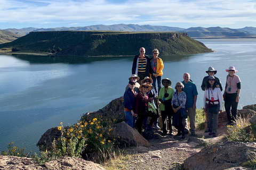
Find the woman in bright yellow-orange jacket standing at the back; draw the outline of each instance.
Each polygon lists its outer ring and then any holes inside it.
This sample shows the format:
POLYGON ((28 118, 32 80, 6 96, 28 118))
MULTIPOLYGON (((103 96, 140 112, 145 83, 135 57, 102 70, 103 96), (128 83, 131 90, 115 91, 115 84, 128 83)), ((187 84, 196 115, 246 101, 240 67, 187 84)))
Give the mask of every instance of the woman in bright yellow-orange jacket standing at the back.
POLYGON ((161 58, 158 57, 159 51, 158 49, 153 50, 153 58, 150 59, 151 68, 153 73, 151 74, 151 78, 153 80, 153 87, 156 89, 156 80, 158 86, 158 94, 161 89, 161 79, 163 76, 164 63, 161 58))

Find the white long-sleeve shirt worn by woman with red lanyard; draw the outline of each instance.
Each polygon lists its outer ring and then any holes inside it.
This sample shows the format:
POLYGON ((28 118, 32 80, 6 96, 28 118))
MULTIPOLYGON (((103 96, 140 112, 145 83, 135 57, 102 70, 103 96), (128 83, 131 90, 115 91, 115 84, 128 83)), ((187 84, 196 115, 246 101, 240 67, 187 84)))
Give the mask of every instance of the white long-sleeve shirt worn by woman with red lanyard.
MULTIPOLYGON (((222 95, 221 95, 220 88, 217 88, 217 87, 215 87, 213 90, 212 90, 212 88, 205 89, 205 91, 204 91, 204 108, 206 108, 205 103, 207 103, 207 104, 209 103, 209 101, 206 101, 206 98, 211 100, 212 97, 214 100, 219 99, 220 109, 222 109, 222 95)), ((214 104, 218 104, 218 101, 214 101, 214 104)))

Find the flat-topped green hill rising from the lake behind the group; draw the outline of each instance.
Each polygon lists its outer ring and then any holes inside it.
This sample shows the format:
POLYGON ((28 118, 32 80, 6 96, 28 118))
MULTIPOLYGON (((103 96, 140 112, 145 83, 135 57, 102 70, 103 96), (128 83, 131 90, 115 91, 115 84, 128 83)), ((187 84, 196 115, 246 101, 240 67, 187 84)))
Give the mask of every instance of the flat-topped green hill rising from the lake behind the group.
POLYGON ((177 32, 44 31, 30 32, 0 48, 22 53, 54 53, 58 56, 135 55, 140 47, 147 54, 158 48, 162 55, 212 52, 204 44, 177 32))

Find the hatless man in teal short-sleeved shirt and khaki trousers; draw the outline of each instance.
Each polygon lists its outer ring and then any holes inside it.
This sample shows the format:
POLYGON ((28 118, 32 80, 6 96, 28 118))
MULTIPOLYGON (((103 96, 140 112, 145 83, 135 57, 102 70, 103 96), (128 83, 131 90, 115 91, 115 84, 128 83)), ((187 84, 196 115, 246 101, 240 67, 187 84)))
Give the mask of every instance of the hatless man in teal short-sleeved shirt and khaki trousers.
MULTIPOLYGON (((184 73, 183 75, 184 84, 183 91, 186 93, 187 100, 186 100, 186 108, 188 111, 189 123, 190 123, 190 133, 192 136, 195 136, 195 120, 196 120, 196 99, 197 99, 197 89, 196 84, 190 81, 190 74, 184 73)), ((188 120, 187 118, 183 122, 185 127, 185 133, 188 133, 188 120)))

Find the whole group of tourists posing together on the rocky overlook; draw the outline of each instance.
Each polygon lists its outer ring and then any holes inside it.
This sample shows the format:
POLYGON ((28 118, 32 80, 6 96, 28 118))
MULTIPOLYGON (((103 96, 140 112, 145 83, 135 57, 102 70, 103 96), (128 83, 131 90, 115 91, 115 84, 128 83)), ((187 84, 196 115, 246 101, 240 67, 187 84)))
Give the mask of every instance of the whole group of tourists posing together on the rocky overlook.
MULTIPOLYGON (((126 123, 136 128, 140 134, 142 134, 142 128, 159 130, 158 117, 161 114, 163 135, 167 134, 167 126, 169 126, 170 135, 173 135, 172 126, 178 130, 174 137, 181 137, 180 140, 185 140, 185 134, 189 131, 192 136, 196 135, 195 117, 198 93, 195 83, 190 79, 190 74, 183 74, 183 81, 175 84, 174 91, 171 87, 171 80, 162 79, 164 64, 158 57, 158 49, 153 50, 154 57, 152 58, 145 53, 145 48, 141 47, 140 54, 134 57, 132 75, 125 89, 126 123), (150 121, 148 117, 151 117, 150 121), (190 129, 187 117, 189 117, 190 129)), ((237 70, 234 66, 230 66, 226 71, 228 75, 223 95, 221 95, 223 89, 220 79, 215 77, 217 70, 214 70, 212 66, 206 71, 208 75, 202 81, 201 88, 205 91, 203 108, 207 122, 205 133, 209 132, 212 137, 217 136, 218 114, 222 112, 222 97, 228 117, 227 125, 236 124, 241 80, 235 74, 237 70)))

